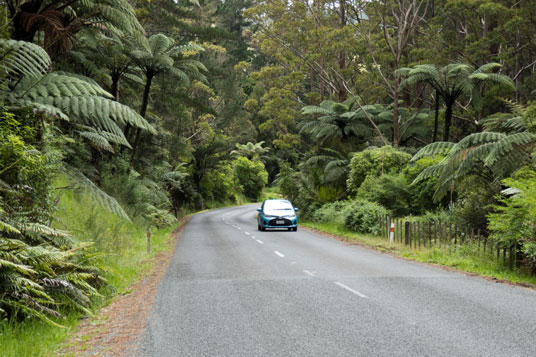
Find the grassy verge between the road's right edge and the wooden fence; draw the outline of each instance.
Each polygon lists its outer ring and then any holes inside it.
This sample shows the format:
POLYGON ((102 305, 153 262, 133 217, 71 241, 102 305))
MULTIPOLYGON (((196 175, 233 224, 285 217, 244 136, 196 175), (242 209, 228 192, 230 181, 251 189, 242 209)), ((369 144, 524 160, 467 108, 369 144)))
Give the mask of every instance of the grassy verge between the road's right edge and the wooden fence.
POLYGON ((449 248, 421 247, 410 249, 398 242, 390 245, 387 239, 383 237, 368 236, 349 231, 336 223, 302 221, 300 225, 403 258, 454 268, 494 280, 536 286, 535 276, 531 276, 525 271, 511 270, 503 265, 502 262, 498 262, 492 254, 478 254, 476 247, 471 247, 470 245, 449 248))

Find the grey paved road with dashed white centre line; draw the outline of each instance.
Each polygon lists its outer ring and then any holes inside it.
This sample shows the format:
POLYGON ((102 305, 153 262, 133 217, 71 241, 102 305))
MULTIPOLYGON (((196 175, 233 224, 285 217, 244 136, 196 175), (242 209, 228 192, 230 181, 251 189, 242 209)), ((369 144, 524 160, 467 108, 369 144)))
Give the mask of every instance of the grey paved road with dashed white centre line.
POLYGON ((300 229, 258 205, 194 216, 159 287, 147 356, 536 356, 536 292, 300 229))

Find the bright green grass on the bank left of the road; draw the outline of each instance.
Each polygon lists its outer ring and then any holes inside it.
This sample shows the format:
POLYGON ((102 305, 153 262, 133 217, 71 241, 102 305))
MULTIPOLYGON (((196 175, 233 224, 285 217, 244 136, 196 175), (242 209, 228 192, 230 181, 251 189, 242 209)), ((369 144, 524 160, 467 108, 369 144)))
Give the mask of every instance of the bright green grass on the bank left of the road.
MULTIPOLYGON (((151 227, 151 253, 147 253, 147 222, 128 222, 101 208, 90 197, 65 191, 59 201, 53 226, 68 230, 82 242, 94 242, 97 265, 106 271, 110 286, 102 291, 106 299, 97 301, 95 311, 152 268, 150 258, 171 249, 170 234, 178 223, 163 229, 151 227)), ((40 321, 9 323, 0 321, 1 356, 52 356, 62 341, 76 330, 78 315, 58 321, 58 328, 40 321)))

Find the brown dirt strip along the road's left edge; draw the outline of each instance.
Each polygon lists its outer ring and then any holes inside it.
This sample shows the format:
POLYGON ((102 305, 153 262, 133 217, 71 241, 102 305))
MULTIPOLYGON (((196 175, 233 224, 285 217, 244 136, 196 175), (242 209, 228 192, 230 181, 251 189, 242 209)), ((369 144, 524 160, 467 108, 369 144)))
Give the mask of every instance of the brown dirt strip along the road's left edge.
POLYGON ((179 228, 171 234, 169 244, 172 248, 148 260, 153 263, 151 272, 103 308, 97 317, 83 321, 75 335, 65 343, 61 355, 141 355, 138 343, 145 331, 158 284, 166 274, 180 234, 189 218, 183 218, 179 228))

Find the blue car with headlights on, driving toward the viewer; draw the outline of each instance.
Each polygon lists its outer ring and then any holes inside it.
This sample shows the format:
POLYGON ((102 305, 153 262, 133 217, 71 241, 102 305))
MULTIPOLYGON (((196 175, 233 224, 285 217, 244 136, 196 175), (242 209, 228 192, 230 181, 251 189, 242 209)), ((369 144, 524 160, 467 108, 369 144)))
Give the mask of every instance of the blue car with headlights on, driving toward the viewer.
POLYGON ((262 203, 262 207, 257 208, 257 212, 259 212, 257 217, 259 231, 264 231, 266 228, 287 228, 289 231, 297 231, 297 210, 288 200, 265 200, 262 203))

